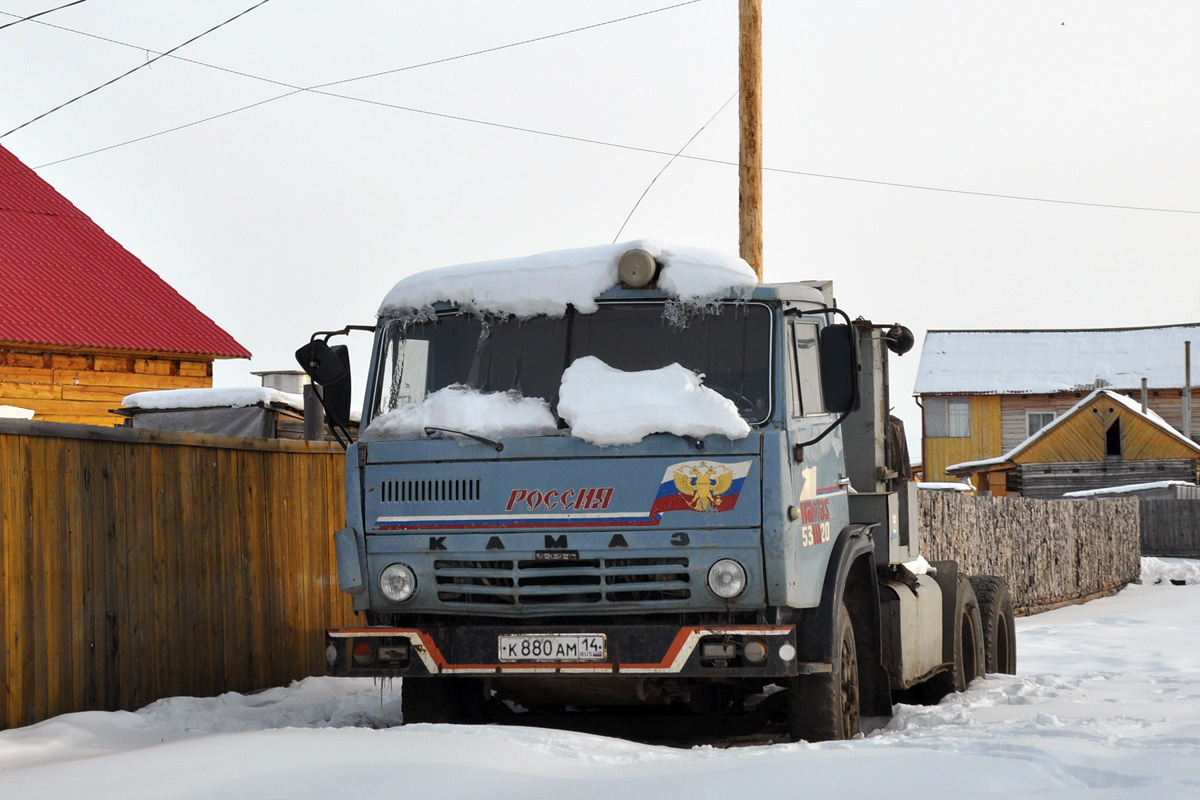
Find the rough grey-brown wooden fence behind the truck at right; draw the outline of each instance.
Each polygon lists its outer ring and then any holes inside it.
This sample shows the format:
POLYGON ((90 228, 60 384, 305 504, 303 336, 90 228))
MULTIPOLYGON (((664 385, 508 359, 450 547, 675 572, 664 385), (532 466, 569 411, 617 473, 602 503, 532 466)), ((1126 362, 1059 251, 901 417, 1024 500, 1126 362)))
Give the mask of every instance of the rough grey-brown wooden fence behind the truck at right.
POLYGON ((919 492, 925 558, 1008 581, 1018 613, 1116 591, 1141 572, 1139 500, 919 492))

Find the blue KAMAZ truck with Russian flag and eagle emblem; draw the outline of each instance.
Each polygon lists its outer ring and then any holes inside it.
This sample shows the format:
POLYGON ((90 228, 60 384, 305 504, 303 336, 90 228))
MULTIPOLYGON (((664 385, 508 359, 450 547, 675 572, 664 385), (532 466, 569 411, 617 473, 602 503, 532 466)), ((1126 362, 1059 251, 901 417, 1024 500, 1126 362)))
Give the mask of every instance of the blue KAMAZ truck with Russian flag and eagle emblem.
MULTIPOLYGON (((404 723, 582 715, 820 740, 1013 672, 1004 582, 920 558, 888 414, 888 353, 911 348, 907 329, 851 319, 817 282, 689 306, 668 287, 686 264, 611 258, 611 288, 547 313, 490 313, 449 288, 433 300, 442 279, 422 284, 422 309, 382 309, 335 534, 362 624, 328 631, 329 674, 403 679, 404 723), (744 431, 575 435, 560 392, 586 357, 622 374, 679 365, 744 431), (448 390, 539 398, 551 423, 422 417, 448 390), (389 415, 415 433, 372 435, 389 415)), ((508 267, 510 289, 538 279, 508 267)), ((298 357, 337 417, 347 361, 329 338, 298 357)), ((611 402, 636 420, 646 399, 611 402)))

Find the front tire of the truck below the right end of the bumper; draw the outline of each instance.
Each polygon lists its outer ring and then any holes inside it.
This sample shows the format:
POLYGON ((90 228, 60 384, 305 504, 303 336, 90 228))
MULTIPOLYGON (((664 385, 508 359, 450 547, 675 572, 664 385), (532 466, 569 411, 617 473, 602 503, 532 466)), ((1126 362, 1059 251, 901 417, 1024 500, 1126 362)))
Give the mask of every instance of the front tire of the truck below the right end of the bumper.
POLYGON ((845 604, 833 625, 833 669, 827 675, 797 675, 787 684, 792 741, 850 739, 860 730, 858 648, 845 604))

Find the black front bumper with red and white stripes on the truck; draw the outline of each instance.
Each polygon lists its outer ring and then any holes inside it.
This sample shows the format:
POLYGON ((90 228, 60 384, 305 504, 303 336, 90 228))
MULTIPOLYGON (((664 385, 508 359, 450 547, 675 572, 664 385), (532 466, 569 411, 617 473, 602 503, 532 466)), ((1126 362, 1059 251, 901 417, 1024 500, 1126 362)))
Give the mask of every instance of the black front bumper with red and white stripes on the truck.
MULTIPOLYGON (((793 626, 346 627, 328 630, 325 644, 330 675, 360 678, 547 674, 784 678, 830 669, 827 663, 796 660, 793 626), (502 637, 556 633, 605 637, 604 660, 500 661, 502 637), (764 645, 761 661, 746 656, 746 645, 751 643, 764 645)), ((756 645, 751 646, 751 651, 755 649, 756 645)))

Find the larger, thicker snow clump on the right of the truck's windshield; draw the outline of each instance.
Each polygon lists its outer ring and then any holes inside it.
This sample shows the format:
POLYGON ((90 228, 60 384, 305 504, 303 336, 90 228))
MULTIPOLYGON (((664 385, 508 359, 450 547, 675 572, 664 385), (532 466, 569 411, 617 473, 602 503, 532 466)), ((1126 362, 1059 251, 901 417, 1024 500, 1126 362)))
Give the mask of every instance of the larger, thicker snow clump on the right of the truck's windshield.
POLYGON ((571 435, 594 445, 629 445, 652 433, 742 439, 750 426, 737 407, 678 363, 622 372, 595 356, 563 373, 558 414, 571 435))

